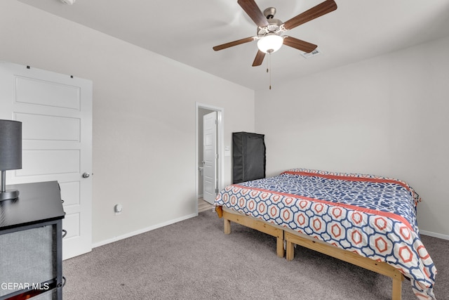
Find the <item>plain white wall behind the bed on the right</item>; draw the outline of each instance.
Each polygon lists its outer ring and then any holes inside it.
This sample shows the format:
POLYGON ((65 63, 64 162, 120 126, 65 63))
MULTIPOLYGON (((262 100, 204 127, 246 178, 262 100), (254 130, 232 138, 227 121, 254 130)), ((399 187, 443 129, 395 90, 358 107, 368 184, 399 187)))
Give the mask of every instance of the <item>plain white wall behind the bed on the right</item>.
POLYGON ((420 230, 449 238, 448 53, 445 38, 256 91, 267 175, 306 167, 402 179, 422 197, 420 230))

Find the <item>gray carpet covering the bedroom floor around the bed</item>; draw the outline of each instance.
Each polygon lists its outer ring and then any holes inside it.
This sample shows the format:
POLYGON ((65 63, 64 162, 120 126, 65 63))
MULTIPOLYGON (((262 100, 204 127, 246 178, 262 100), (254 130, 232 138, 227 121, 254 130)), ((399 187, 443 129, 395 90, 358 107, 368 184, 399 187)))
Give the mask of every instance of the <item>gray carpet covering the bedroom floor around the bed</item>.
MULTIPOLYGON (((449 241, 422 236, 434 260, 435 295, 449 299, 449 241)), ((276 256, 274 237, 232 223, 231 235, 212 211, 93 249, 63 263, 71 299, 389 300, 391 280, 297 247, 276 256)), ((417 299, 404 280, 402 299, 417 299)))

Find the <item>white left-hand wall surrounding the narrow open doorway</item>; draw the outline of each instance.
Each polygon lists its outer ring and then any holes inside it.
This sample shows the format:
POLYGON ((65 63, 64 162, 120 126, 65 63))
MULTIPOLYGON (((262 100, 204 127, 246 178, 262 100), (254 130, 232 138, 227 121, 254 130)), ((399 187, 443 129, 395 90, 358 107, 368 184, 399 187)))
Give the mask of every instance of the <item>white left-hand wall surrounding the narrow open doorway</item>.
POLYGON ((0 27, 0 60, 93 80, 94 245, 196 213, 196 102, 224 108, 225 145, 254 131, 250 89, 14 0, 0 27))

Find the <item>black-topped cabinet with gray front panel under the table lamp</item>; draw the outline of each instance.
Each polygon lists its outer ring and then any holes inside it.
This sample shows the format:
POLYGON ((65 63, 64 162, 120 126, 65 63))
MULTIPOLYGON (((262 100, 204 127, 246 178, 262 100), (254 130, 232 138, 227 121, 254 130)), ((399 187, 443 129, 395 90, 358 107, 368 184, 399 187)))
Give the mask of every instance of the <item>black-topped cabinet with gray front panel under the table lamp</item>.
POLYGON ((0 202, 0 299, 62 299, 62 208, 58 182, 9 185, 0 202))

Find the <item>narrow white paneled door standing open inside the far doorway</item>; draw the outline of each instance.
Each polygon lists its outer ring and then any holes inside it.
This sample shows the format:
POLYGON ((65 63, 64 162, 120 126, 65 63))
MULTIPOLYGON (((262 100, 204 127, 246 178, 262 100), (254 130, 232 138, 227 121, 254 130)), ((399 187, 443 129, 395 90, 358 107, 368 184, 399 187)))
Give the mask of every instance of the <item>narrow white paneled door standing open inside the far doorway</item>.
POLYGON ((217 195, 217 112, 203 116, 203 199, 213 204, 217 195))

